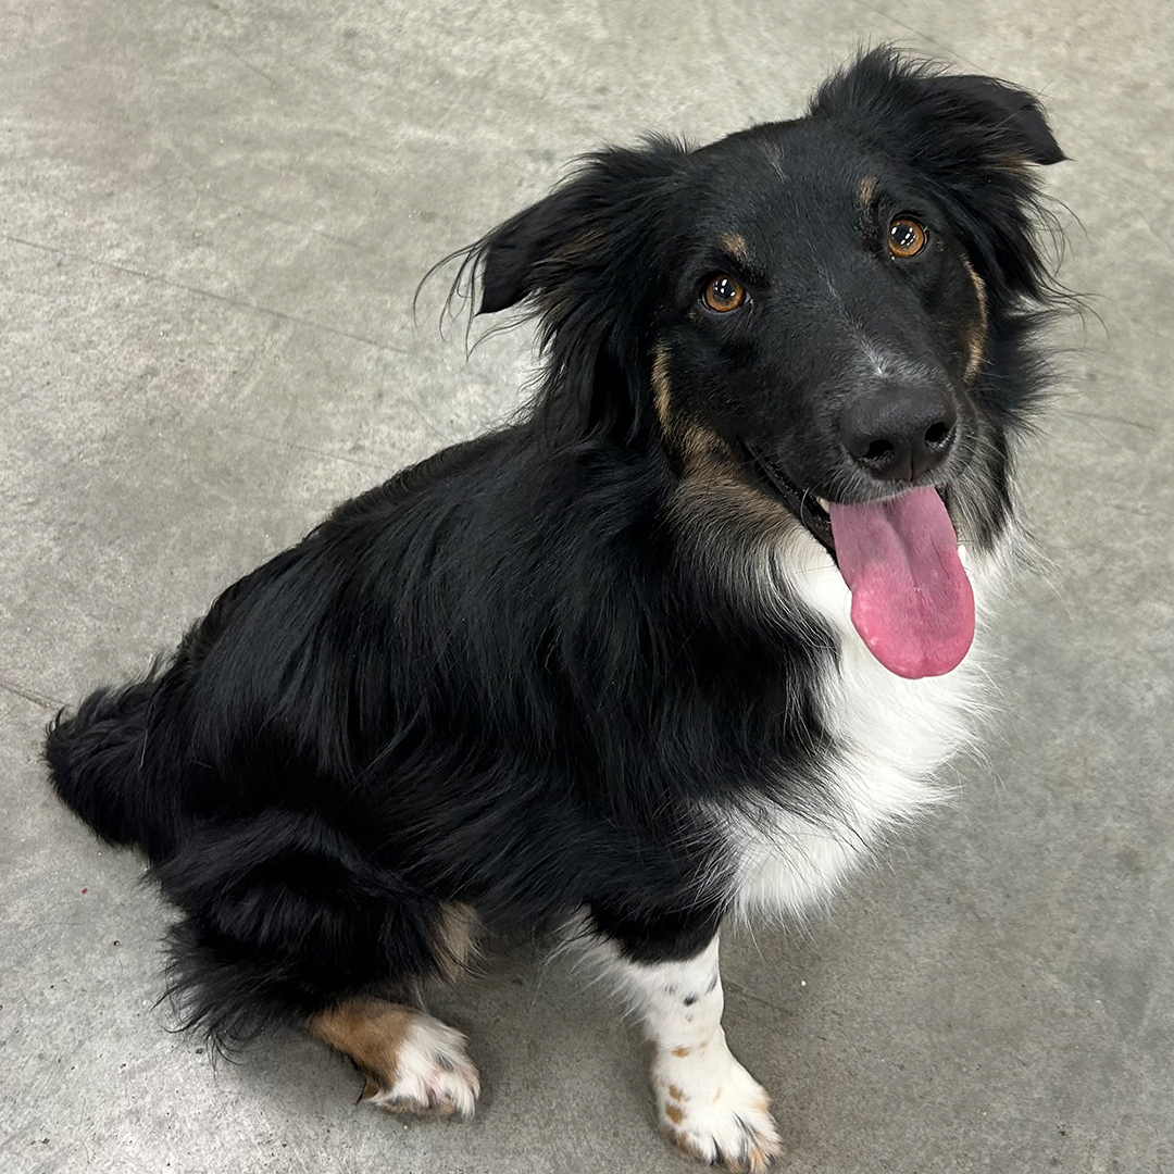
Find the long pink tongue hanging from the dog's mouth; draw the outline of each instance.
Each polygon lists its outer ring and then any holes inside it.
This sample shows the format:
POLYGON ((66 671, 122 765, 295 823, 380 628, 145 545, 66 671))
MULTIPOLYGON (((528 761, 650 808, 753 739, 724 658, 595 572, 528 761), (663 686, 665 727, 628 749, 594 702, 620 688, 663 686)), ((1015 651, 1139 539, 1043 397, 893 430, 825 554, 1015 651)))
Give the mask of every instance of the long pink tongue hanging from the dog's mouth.
POLYGON ((974 594, 937 490, 831 507, 836 560, 852 623, 898 676, 940 676, 974 639, 974 594))

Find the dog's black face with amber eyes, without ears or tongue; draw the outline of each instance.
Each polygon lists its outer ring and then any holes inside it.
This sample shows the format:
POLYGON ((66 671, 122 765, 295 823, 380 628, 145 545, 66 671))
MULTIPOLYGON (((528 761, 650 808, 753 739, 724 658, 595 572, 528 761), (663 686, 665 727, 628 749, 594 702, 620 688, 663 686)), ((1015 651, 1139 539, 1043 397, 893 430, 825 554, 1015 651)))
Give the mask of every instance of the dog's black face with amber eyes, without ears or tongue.
POLYGON ((980 427, 987 295, 924 178, 802 121, 697 153, 689 180, 653 315, 679 461, 734 454, 829 548, 821 500, 949 484, 980 427))

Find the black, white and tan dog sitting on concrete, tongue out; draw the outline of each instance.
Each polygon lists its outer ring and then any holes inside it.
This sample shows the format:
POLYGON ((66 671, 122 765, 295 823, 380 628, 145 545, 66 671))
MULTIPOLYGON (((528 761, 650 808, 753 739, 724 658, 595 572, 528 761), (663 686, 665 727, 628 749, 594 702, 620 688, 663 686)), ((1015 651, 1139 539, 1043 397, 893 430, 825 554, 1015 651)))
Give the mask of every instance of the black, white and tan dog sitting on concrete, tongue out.
POLYGON ((1064 157, 1024 90, 880 47, 802 117, 589 155, 465 250, 479 312, 538 322, 528 409, 48 729, 58 794, 178 911, 185 1024, 295 1021, 372 1105, 467 1118, 425 985, 571 933, 663 1132, 763 1170, 720 929, 826 900, 973 734, 1064 157))

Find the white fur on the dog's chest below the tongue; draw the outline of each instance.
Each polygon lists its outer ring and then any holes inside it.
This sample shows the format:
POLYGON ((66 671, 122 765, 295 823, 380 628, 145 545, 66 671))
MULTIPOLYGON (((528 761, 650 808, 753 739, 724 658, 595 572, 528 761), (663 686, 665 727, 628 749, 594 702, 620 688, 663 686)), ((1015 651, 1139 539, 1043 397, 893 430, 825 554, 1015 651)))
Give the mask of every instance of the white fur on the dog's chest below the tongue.
MULTIPOLYGON (((984 587, 1000 561, 967 566, 980 614, 984 587)), ((985 674, 977 647, 940 677, 906 681, 885 669, 851 625, 851 595, 839 572, 805 535, 780 552, 769 578, 776 585, 785 578, 841 646, 838 672, 830 669, 822 687, 824 721, 839 747, 821 771, 832 798, 829 814, 770 808, 729 822, 736 910, 778 917, 826 900, 886 831, 940 801, 935 776, 973 737, 985 674)))

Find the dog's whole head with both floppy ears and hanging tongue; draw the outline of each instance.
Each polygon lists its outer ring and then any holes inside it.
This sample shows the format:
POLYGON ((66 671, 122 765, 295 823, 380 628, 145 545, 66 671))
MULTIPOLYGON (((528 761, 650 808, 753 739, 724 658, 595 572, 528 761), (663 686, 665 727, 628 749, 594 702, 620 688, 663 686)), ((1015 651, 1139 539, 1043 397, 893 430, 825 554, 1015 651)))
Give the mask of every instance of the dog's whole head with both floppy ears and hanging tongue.
POLYGON ((591 156, 474 247, 480 309, 531 299, 560 426, 804 527, 877 655, 946 672, 973 630, 946 511, 976 546, 1006 514, 1047 291, 1031 164, 1062 158, 1025 92, 872 50, 805 117, 591 156))

